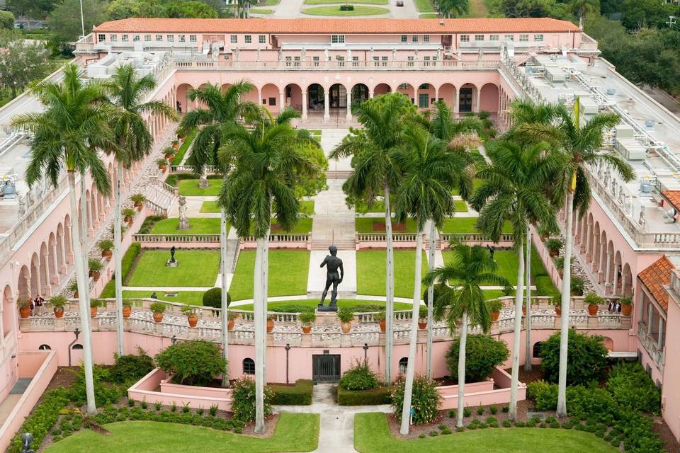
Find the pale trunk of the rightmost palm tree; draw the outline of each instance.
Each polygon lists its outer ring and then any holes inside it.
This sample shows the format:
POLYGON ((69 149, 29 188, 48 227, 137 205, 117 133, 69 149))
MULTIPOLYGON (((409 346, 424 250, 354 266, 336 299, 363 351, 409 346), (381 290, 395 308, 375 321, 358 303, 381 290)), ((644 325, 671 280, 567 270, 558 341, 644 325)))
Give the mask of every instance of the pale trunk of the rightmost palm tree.
POLYGON ((560 319, 560 375, 557 379, 557 417, 567 415, 567 347, 569 345, 569 305, 572 286, 572 217, 574 193, 567 193, 567 227, 565 229, 565 265, 562 269, 562 318, 560 319))

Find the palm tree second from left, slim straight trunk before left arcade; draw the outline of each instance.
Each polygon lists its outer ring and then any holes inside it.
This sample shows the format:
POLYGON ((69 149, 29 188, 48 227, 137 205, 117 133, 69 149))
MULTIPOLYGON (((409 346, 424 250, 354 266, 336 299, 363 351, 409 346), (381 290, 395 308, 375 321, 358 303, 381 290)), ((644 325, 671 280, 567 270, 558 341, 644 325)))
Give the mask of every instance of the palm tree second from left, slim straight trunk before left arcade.
POLYGON ((123 222, 120 186, 123 183, 123 168, 143 161, 151 153, 154 138, 149 132, 143 115, 158 115, 176 119, 173 108, 161 101, 147 101, 145 98, 156 88, 153 74, 143 77, 135 75, 135 69, 125 64, 115 70, 115 74, 105 85, 111 103, 115 105, 115 115, 111 121, 113 140, 117 145, 107 151, 115 154, 118 173, 115 178, 115 217, 113 220, 113 260, 115 263, 115 312, 118 327, 118 355, 125 354, 123 348, 123 264, 120 250, 123 222))

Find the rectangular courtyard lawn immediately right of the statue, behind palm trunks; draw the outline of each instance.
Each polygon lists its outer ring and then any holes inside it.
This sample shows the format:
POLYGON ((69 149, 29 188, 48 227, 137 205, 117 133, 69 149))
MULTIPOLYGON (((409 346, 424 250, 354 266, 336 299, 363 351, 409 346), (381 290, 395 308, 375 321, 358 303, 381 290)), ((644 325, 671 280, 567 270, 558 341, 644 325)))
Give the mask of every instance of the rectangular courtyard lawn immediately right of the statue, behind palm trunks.
MULTIPOLYGON (((396 297, 413 297, 415 259, 414 251, 395 250, 396 297)), ((427 273, 425 253, 422 270, 422 275, 425 276, 427 273)), ((385 251, 356 252, 356 293, 370 296, 385 295, 385 251)))

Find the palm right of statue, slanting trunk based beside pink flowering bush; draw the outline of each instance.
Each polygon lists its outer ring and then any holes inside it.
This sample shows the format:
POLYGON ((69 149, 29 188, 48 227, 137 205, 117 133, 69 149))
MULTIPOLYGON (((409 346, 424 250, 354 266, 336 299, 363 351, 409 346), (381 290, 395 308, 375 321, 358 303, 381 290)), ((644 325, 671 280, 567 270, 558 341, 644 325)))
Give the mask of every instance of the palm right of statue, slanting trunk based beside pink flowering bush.
POLYGON ((432 137, 423 127, 407 124, 403 142, 394 156, 397 168, 404 169, 395 197, 395 219, 404 222, 407 217, 416 221, 416 259, 413 290, 412 330, 409 341, 409 361, 404 388, 402 425, 400 432, 409 432, 409 410, 413 391, 416 360, 416 336, 421 295, 421 263, 423 256, 423 231, 426 222, 443 226, 446 217, 455 214, 454 188, 469 185, 465 181, 467 161, 463 155, 450 151, 446 142, 432 137))

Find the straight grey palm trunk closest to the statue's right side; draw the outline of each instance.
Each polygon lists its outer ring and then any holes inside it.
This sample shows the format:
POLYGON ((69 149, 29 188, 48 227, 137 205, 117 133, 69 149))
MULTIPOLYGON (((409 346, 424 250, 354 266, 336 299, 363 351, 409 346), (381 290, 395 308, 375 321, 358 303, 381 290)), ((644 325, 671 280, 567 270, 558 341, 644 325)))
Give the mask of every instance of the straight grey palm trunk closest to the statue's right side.
POLYGON ((390 186, 385 184, 385 385, 392 385, 392 345, 394 345, 395 318, 395 250, 392 246, 392 211, 390 210, 390 186))

